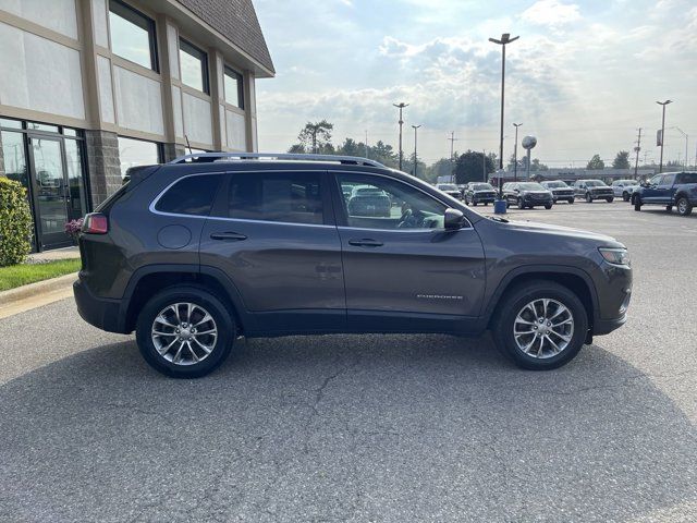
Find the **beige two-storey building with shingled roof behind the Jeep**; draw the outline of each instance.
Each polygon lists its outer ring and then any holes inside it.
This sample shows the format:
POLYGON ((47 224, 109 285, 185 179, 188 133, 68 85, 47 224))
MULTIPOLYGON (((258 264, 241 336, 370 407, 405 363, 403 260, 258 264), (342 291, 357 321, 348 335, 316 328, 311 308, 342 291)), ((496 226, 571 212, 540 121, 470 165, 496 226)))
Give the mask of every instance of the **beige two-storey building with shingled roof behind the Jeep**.
POLYGON ((0 175, 34 248, 133 166, 255 151, 255 83, 274 75, 252 0, 0 0, 0 175))

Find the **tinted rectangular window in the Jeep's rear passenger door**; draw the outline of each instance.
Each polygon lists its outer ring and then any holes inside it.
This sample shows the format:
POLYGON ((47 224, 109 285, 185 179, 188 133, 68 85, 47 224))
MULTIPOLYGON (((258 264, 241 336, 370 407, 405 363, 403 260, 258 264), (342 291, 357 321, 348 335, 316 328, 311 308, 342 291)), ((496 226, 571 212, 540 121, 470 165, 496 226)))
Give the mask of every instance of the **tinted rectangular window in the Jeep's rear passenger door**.
POLYGON ((319 173, 240 173, 230 179, 230 218, 321 224, 319 173))

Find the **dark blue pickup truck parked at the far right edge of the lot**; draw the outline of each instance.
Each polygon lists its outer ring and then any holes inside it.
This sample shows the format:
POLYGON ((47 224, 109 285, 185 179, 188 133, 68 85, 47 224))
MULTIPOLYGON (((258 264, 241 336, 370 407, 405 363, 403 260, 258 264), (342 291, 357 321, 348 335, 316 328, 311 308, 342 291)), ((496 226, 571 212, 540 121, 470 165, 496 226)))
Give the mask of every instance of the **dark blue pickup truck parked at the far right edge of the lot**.
POLYGON ((664 205, 665 210, 677 208, 677 214, 687 216, 697 205, 697 172, 664 172, 656 174, 638 186, 632 194, 634 210, 643 205, 664 205))

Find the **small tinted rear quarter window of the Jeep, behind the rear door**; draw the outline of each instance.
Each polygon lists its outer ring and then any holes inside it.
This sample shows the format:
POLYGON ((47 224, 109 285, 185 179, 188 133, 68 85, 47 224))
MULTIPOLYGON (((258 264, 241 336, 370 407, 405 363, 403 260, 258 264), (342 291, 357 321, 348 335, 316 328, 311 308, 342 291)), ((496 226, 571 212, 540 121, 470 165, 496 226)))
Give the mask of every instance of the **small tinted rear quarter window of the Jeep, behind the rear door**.
POLYGON ((219 183, 219 174, 184 178, 162 195, 155 208, 161 212, 208 216, 219 183))

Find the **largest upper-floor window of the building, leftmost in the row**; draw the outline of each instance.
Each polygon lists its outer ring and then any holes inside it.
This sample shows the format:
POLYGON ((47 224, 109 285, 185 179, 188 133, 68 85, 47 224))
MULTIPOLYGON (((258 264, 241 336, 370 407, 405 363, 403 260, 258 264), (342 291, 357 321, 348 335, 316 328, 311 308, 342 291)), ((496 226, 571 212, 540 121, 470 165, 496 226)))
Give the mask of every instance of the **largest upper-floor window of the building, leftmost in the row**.
POLYGON ((144 68, 157 71, 155 22, 118 0, 109 2, 111 50, 144 68))

